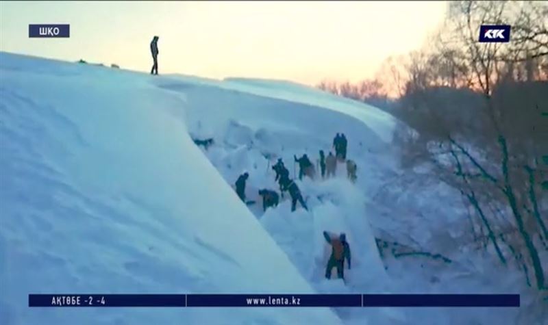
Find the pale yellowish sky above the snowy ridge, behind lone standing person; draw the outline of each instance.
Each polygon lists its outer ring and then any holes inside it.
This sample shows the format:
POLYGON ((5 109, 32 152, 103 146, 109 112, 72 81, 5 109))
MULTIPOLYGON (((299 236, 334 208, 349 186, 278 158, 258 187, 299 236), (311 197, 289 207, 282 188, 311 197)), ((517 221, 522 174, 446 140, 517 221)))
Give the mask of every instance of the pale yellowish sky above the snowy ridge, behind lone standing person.
POLYGON ((0 50, 162 73, 314 85, 373 77, 389 55, 419 49, 445 1, 0 2, 0 50), (32 23, 69 23, 68 39, 29 38, 32 23))

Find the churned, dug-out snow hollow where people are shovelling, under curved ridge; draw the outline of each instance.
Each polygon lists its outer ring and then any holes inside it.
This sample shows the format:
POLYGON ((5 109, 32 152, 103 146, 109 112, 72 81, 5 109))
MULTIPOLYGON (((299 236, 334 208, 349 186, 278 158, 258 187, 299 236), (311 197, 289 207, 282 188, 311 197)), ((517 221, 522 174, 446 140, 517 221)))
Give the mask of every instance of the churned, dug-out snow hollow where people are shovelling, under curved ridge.
POLYGON ((250 207, 318 291, 522 294, 521 309, 337 310, 347 324, 364 319, 374 324, 542 324, 543 302, 525 288, 519 271, 500 268, 492 256, 471 247, 461 249, 469 229, 458 192, 423 179, 420 170, 409 175, 399 168, 397 149, 385 136, 398 125, 394 118, 374 107, 283 81, 198 83, 180 76, 158 81, 186 103, 181 118, 192 135, 214 138, 215 144, 203 152, 227 183, 234 184, 244 170, 250 172, 250 199, 259 200, 260 188, 277 189, 271 166, 278 157, 293 176, 298 172, 292 166, 293 155, 308 153, 314 161, 319 149, 330 150, 336 132, 347 134, 349 158, 358 162, 356 185, 346 180, 345 168, 339 166, 336 179, 298 181, 310 213, 290 213, 288 201, 264 214, 260 205, 250 207), (311 104, 321 99, 325 107, 311 104), (347 105, 366 110, 371 118, 353 114, 347 105), (329 254, 323 230, 349 235, 355 266, 347 271, 347 286, 323 279, 329 254), (386 245, 386 271, 375 247, 377 239, 380 246, 386 245))

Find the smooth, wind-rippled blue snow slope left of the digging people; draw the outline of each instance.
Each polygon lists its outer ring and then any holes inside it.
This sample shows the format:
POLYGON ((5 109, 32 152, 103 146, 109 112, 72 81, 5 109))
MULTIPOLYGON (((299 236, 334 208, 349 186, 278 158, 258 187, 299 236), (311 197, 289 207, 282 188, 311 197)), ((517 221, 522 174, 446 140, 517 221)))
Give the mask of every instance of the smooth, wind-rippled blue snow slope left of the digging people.
POLYGON ((329 309, 29 309, 29 293, 314 290, 147 75, 8 53, 0 69, 0 324, 339 322, 329 309))

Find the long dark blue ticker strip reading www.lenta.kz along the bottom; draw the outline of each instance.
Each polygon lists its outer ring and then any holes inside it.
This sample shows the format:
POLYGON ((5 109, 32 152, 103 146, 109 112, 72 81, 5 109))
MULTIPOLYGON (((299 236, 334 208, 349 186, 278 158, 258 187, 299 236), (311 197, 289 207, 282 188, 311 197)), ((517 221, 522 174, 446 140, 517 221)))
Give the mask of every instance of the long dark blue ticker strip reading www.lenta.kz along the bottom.
POLYGON ((519 306, 519 294, 29 294, 29 307, 519 306))

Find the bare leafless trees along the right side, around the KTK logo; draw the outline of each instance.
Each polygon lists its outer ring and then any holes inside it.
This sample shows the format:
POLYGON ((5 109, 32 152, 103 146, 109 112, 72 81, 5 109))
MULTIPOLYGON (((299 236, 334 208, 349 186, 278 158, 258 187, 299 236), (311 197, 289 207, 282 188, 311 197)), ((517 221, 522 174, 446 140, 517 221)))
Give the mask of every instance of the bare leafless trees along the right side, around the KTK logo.
POLYGON ((530 2, 452 2, 431 53, 410 55, 400 113, 419 131, 412 142, 423 159, 473 207, 473 227, 501 263, 513 256, 538 289, 546 285, 538 247, 548 247, 539 200, 546 175, 540 153, 548 153, 548 130, 539 122, 548 83, 538 81, 545 75, 545 11, 530 2), (514 28, 510 43, 477 42, 480 25, 502 23, 514 28))

